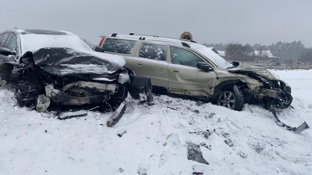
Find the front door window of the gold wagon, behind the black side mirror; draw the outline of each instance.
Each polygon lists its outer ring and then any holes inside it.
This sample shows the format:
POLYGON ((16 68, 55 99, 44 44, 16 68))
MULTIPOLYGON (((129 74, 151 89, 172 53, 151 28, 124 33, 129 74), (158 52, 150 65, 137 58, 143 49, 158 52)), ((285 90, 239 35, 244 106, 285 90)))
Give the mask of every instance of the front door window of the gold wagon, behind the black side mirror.
POLYGON ((170 56, 172 64, 197 67, 197 63, 204 62, 192 52, 178 47, 170 47, 170 56))

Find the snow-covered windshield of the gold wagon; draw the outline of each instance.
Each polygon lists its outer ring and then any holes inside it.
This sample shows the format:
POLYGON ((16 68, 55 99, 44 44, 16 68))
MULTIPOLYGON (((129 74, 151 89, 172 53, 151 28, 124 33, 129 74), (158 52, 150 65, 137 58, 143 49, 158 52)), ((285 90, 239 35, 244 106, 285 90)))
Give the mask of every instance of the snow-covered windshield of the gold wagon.
MULTIPOLYGON (((194 44, 192 44, 192 46, 194 46, 194 44)), ((211 49, 209 49, 203 45, 199 45, 199 44, 196 44, 196 46, 194 47, 196 50, 198 50, 201 54, 206 56, 209 60, 211 60, 218 67, 228 68, 228 67, 233 66, 231 63, 227 62, 225 59, 223 59, 221 56, 219 56, 218 54, 213 52, 211 49), (198 47, 198 46, 201 46, 201 47, 198 47)))

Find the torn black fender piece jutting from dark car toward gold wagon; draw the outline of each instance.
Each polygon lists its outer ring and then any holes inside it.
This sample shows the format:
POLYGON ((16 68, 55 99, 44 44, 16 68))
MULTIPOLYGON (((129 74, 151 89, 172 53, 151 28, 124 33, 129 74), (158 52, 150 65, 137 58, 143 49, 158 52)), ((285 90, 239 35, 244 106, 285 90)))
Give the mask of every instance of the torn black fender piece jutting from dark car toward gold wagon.
POLYGON ((129 73, 130 77, 130 84, 128 86, 130 96, 135 99, 140 99, 140 93, 146 94, 146 101, 152 102, 153 101, 153 95, 152 95, 152 82, 150 78, 143 78, 135 76, 132 73, 129 73))

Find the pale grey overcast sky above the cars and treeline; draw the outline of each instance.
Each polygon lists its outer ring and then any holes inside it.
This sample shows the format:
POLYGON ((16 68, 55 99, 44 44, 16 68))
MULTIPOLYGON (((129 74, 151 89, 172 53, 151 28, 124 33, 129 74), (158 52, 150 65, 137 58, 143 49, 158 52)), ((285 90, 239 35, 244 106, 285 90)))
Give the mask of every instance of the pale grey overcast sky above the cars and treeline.
POLYGON ((0 0, 0 32, 71 31, 93 44, 100 35, 140 33, 198 43, 301 40, 312 47, 312 0, 0 0))

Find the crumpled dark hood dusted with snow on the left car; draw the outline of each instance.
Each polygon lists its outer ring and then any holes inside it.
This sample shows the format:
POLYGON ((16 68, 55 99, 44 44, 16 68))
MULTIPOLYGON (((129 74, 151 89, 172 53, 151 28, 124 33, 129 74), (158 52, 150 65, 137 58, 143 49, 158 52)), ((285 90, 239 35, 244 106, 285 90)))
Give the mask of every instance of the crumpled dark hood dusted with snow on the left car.
MULTIPOLYGON (((57 76, 111 74, 126 63, 119 55, 71 48, 42 48, 31 53, 36 65, 57 76)), ((27 55, 29 52, 22 59, 27 55)))

